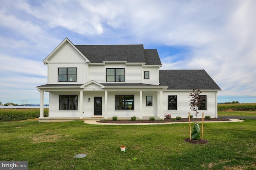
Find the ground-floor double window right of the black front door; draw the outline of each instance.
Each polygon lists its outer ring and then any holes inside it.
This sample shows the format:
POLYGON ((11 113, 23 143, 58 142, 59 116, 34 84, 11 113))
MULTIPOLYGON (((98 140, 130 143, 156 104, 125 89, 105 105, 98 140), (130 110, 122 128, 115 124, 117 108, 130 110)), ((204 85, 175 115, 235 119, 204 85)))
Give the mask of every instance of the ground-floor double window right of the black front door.
POLYGON ((116 110, 134 110, 134 95, 116 95, 116 110))

